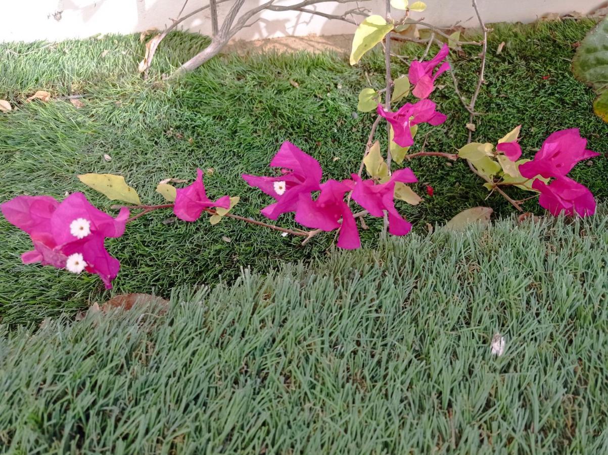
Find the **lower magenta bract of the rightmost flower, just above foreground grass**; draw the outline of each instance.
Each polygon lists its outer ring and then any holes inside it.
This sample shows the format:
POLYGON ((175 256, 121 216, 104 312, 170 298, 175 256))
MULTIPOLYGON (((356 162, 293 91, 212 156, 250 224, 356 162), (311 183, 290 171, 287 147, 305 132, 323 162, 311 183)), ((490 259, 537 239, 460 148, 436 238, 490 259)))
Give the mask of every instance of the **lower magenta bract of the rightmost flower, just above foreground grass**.
POLYGON ((593 193, 571 178, 558 177, 548 185, 541 179, 536 179, 532 187, 541 192, 538 203, 549 210, 551 215, 558 216, 564 212, 568 217, 573 217, 575 213, 589 217, 595 214, 593 193))

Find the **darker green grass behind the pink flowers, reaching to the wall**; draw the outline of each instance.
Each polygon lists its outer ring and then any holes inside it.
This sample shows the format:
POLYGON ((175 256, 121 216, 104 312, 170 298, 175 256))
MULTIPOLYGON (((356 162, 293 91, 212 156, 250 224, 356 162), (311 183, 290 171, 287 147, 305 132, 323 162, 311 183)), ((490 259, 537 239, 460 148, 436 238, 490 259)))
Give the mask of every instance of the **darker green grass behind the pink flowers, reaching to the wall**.
MULTIPOLYGON (((477 102, 477 141, 495 142, 522 123, 525 156, 551 131, 580 127, 590 148, 608 150, 606 124, 592 113, 593 93, 570 73, 574 44, 592 27, 589 21, 540 23, 533 26, 496 26, 489 43, 486 85, 477 102), (505 41, 500 55, 499 44, 505 41), (549 76, 544 79, 544 76, 549 76)), ((268 173, 268 162, 282 141, 290 140, 318 158, 328 178, 345 178, 356 170, 373 114, 354 118, 357 94, 366 74, 381 86, 381 56, 364 58, 351 67, 347 57, 334 54, 226 55, 209 61, 177 83, 161 80, 206 44, 205 38, 178 33, 161 46, 154 71, 142 81, 135 69, 142 58, 138 36, 46 43, 0 44, 0 99, 18 108, 0 115, 0 200, 21 194, 50 194, 84 190, 98 206, 110 203, 85 189, 76 175, 110 172, 124 175, 148 203, 160 203, 154 193, 167 177, 193 178, 196 167, 214 168, 207 176, 211 196, 240 195, 235 212, 260 217, 268 198, 250 189, 240 173, 268 173), (294 88, 289 80, 299 83, 294 88), (55 100, 24 104, 36 89, 55 96, 85 94, 85 107, 55 100), (192 137, 192 141, 188 141, 192 137), (112 157, 106 162, 104 154, 112 157), (339 160, 334 161, 334 158, 339 160)), ((401 51, 415 57, 418 46, 401 51)), ((470 93, 476 81, 478 48, 457 58, 461 89, 470 93)), ((394 73, 407 69, 395 64, 394 73)), ((466 142, 468 116, 455 97, 449 77, 434 99, 449 120, 440 127, 421 128, 418 145, 426 150, 454 151, 466 142), (428 135, 427 135, 428 133, 428 135)), ((497 215, 512 209, 499 196, 488 195, 481 181, 461 163, 442 159, 412 162, 424 183, 435 187, 435 197, 418 207, 399 206, 425 229, 442 223, 462 209, 488 204, 497 215)), ((604 200, 608 194, 608 160, 579 165, 574 178, 604 200)), ((538 210, 536 203, 528 209, 538 210)), ((280 220, 292 226, 289 217, 280 220)), ((375 245, 378 223, 370 221, 364 243, 375 245)), ((19 254, 29 248, 22 232, 0 220, 0 318, 22 323, 75 311, 88 301, 102 301, 96 277, 78 277, 52 268, 24 266, 19 254)), ((298 239, 277 232, 224 220, 210 227, 174 223, 170 212, 137 221, 109 249, 122 263, 117 293, 132 291, 167 295, 176 285, 216 283, 233 279, 240 268, 265 270, 284 261, 323 257, 333 234, 320 235, 302 247, 298 239), (222 237, 230 237, 226 243, 222 237)))

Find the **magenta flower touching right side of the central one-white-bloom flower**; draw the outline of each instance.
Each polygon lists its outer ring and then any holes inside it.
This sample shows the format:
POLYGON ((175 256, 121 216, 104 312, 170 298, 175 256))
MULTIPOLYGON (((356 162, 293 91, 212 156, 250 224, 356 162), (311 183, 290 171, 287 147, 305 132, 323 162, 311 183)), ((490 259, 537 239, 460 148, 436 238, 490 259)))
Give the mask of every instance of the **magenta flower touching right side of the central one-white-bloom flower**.
POLYGON ((353 182, 330 179, 323 183, 320 189, 321 192, 316 200, 313 200, 310 193, 300 193, 300 200, 295 210, 295 221, 303 226, 325 232, 340 229, 337 246, 345 249, 359 248, 361 240, 353 212, 344 202, 344 195, 353 189, 353 182), (342 218, 341 224, 340 218, 342 218))

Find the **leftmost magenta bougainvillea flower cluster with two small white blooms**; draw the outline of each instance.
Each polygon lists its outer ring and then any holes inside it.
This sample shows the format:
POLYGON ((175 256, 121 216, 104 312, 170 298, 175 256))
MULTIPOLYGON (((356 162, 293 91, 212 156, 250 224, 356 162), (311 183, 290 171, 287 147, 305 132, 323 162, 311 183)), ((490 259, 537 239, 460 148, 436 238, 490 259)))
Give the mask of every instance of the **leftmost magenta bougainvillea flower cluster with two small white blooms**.
POLYGON ((106 251, 104 240, 125 232, 128 209, 112 218, 82 193, 73 193, 61 203, 50 196, 18 196, 0 208, 9 223, 32 238, 34 249, 21 255, 23 263, 40 262, 73 273, 86 270, 112 288, 120 263, 106 251))

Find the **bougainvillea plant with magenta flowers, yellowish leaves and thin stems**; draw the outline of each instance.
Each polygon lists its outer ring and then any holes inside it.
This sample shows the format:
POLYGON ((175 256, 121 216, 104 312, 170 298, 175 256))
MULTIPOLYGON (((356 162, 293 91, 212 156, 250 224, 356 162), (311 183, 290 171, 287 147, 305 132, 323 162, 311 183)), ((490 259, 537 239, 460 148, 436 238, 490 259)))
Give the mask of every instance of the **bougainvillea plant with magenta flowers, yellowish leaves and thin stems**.
MULTIPOLYGON (((362 55, 382 43, 385 50, 386 86, 384 89, 364 88, 359 94, 358 108, 364 112, 376 111, 377 117, 371 128, 364 157, 358 173, 351 173, 349 178, 341 180, 328 178, 323 180, 323 170, 319 162, 300 150, 291 142, 284 142, 270 162, 275 169, 274 175, 254 176, 244 174, 243 179, 249 186, 255 187, 269 196, 270 203, 261 209, 261 214, 269 220, 278 220, 286 214, 292 214, 294 220, 311 231, 286 229, 275 224, 251 218, 240 217, 230 213, 238 203, 238 196, 221 196, 212 201, 203 184, 203 172, 198 169, 195 181, 184 187, 176 188, 161 182, 157 192, 167 200, 165 204, 143 205, 135 190, 125 180, 116 175, 86 174, 78 176, 80 180, 110 200, 120 200, 132 204, 118 206, 116 218, 92 206, 82 193, 73 193, 58 202, 51 196, 18 196, 1 204, 4 217, 22 231, 27 232, 32 240, 32 251, 21 255, 22 262, 50 265, 66 269, 72 273, 97 274, 106 288, 112 287, 112 280, 119 272, 119 262, 105 249, 105 239, 120 237, 125 232, 126 224, 157 209, 173 209, 180 220, 193 222, 202 214, 211 215, 211 224, 217 224, 223 217, 235 218, 247 223, 281 231, 283 235, 304 237, 303 243, 311 240, 319 232, 337 232, 337 246, 344 249, 355 249, 361 246, 357 218, 370 215, 384 218, 384 229, 393 235, 406 235, 412 229, 405 218, 395 207, 395 199, 417 205, 422 198, 414 192, 409 184, 418 182, 409 167, 402 167, 404 161, 418 156, 440 156, 452 160, 463 159, 472 172, 483 179, 491 192, 500 193, 517 210, 522 210, 523 201, 513 200, 505 188, 516 186, 533 192, 539 198, 539 204, 552 215, 587 217, 595 213, 595 199, 592 193, 582 184, 568 177, 568 173, 579 162, 598 156, 595 151, 586 148, 587 141, 575 128, 556 131, 547 137, 541 149, 533 159, 521 159, 522 149, 519 145, 520 127, 514 128, 497 144, 471 141, 475 99, 483 82, 485 68, 485 51, 488 29, 478 15, 477 5, 473 1, 475 12, 482 26, 484 41, 482 43, 460 42, 456 36, 446 35, 434 29, 426 47, 424 57, 434 43, 440 44, 440 50, 429 60, 412 61, 407 75, 392 79, 390 68, 390 43, 393 30, 399 31, 412 26, 409 14, 412 10, 423 9, 424 4, 416 2, 416 8, 409 8, 406 1, 393 0, 393 7, 406 11, 404 18, 394 21, 387 16, 374 15, 366 18, 359 25, 353 40, 351 64, 356 64, 362 55), (436 34, 447 38, 447 44, 436 38, 436 34), (435 90, 435 83, 447 71, 451 71, 447 61, 450 47, 460 44, 478 44, 483 46, 480 80, 471 102, 465 103, 470 113, 469 143, 457 153, 420 151, 409 154, 414 144, 418 125, 440 125, 446 116, 437 111, 437 105, 429 99, 435 90), (412 89, 413 87, 413 89, 412 89), (392 103, 401 102, 410 94, 413 96, 401 106, 392 108, 392 103), (381 96, 384 94, 384 103, 381 96), (384 120, 387 127, 385 157, 382 156, 379 141, 374 141, 376 129, 384 120), (365 168, 368 176, 364 178, 365 168), (361 210, 354 210, 359 206, 361 210), (130 218, 130 210, 140 212, 130 218)), ((411 5, 410 5, 411 6, 411 5)), ((418 21, 419 23, 420 21, 418 21)), ((434 195, 432 186, 426 186, 427 196, 434 195)))

